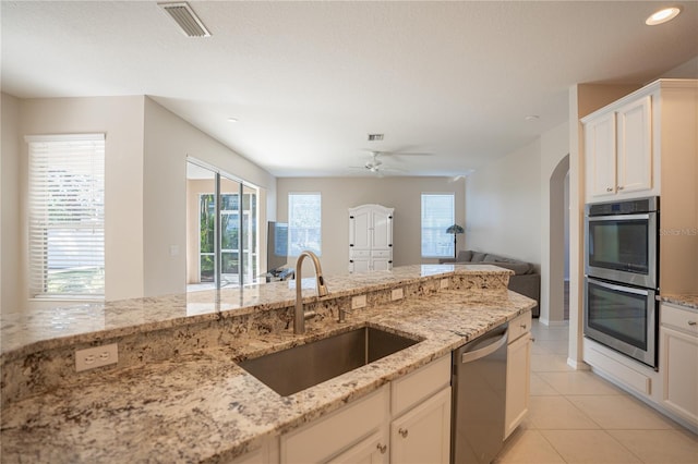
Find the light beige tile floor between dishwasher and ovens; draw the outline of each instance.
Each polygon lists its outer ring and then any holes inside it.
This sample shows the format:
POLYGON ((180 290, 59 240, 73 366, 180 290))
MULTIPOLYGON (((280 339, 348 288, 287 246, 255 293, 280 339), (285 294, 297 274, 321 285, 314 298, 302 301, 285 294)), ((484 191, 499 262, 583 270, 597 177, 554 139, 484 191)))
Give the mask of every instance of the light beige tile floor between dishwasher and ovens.
POLYGON ((698 464, 698 437, 590 371, 567 366, 568 328, 534 319, 531 404, 496 464, 698 464))

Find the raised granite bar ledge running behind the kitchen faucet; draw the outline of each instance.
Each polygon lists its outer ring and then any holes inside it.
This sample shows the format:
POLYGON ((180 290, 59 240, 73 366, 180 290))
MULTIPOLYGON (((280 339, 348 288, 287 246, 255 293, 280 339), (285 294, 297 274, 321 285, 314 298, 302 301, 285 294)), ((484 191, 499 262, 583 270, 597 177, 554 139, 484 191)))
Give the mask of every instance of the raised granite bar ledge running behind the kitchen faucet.
MULTIPOLYGON (((412 265, 392 271, 325 276, 332 297, 354 295, 408 284, 424 277, 460 272, 479 274, 503 270, 494 266, 412 265)), ((303 300, 313 300, 315 279, 302 280, 303 300)), ((244 314, 292 306, 296 281, 272 282, 242 289, 206 290, 157 297, 106 303, 58 304, 0 315, 1 353, 23 355, 27 347, 51 349, 65 343, 91 342, 109 337, 186 326, 195 321, 238 317, 244 314)))

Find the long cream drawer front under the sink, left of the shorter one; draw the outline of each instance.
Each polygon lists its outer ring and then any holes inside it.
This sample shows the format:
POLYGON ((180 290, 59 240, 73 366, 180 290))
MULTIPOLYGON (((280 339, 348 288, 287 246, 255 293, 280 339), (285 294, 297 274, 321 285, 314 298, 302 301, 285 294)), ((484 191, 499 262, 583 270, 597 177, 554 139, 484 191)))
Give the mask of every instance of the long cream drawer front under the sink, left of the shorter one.
POLYGON ((388 416, 388 387, 281 437, 282 463, 325 462, 377 430, 388 416))

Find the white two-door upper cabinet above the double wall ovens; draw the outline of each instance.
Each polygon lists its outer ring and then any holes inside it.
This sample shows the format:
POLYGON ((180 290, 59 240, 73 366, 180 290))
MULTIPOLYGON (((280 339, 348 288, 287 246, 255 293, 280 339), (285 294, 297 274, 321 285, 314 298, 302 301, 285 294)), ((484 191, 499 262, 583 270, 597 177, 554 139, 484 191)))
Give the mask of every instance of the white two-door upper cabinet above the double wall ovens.
POLYGON ((695 95, 696 81, 660 80, 583 118, 586 203, 661 195, 665 164, 695 145, 695 126, 672 125, 696 114, 675 101, 695 95))

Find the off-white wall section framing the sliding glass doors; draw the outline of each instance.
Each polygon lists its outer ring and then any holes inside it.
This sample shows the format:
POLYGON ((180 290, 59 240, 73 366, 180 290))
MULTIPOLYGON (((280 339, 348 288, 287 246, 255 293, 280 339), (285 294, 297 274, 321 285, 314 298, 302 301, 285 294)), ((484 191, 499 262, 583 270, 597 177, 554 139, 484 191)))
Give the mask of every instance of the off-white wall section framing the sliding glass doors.
MULTIPOLYGON (((261 202, 266 198, 267 206, 268 199, 276 198, 276 179, 149 98, 145 99, 144 125, 144 294, 184 292, 186 157, 261 187, 261 202), (179 248, 176 256, 171 256, 171 246, 179 248)), ((260 230, 266 230, 266 209, 260 211, 260 230)))

